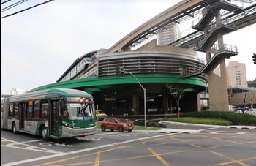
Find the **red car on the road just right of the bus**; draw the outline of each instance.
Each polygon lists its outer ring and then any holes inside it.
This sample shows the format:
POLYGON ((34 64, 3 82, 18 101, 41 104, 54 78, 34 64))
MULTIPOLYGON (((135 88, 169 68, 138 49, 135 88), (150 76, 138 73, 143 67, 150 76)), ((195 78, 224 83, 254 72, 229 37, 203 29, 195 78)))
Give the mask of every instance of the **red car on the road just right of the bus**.
POLYGON ((101 121, 102 132, 105 132, 106 129, 110 129, 112 132, 118 130, 118 132, 132 132, 133 124, 132 122, 126 121, 123 118, 104 118, 101 121))

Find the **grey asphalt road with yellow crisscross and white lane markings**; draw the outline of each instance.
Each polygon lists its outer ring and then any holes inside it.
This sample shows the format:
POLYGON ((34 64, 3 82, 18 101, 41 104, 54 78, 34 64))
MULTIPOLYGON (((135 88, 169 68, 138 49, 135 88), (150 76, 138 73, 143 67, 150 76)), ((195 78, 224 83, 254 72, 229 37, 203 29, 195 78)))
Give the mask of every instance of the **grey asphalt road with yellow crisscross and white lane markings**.
POLYGON ((49 141, 1 130, 1 165, 256 163, 256 129, 162 123, 167 128, 160 131, 101 132, 98 129, 89 137, 49 141))

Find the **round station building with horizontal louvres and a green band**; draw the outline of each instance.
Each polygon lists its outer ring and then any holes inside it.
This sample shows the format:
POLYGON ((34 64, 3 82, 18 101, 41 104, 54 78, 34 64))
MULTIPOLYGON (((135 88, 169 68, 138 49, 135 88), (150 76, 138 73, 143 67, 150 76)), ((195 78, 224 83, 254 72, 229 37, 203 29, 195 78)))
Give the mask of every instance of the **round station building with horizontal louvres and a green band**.
POLYGON ((101 51, 100 54, 95 51, 94 54, 97 57, 88 53, 94 61, 72 80, 31 91, 76 88, 92 94, 97 108, 107 114, 140 115, 145 109, 143 88, 146 89, 148 114, 176 113, 176 100, 166 87, 176 85, 184 89, 181 111, 200 110, 200 92, 206 89, 207 77, 182 78, 184 73, 199 72, 204 67, 203 60, 196 56, 194 50, 159 46, 157 39, 154 39, 137 50, 121 53, 101 51), (116 75, 116 66, 124 69, 124 76, 116 75))

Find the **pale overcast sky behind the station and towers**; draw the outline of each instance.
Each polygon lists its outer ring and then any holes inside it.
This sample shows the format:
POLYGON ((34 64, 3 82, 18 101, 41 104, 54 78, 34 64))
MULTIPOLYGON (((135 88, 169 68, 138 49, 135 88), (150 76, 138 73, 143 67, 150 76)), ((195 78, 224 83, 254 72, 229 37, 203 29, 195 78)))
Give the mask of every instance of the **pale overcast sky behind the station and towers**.
MULTIPOLYGON (((12 0, 9 4, 14 2, 12 0)), ((12 10, 1 12, 1 17, 42 2, 26 1, 12 10)), ((177 2, 55 0, 2 18, 1 94, 10 94, 12 88, 30 90, 55 83, 78 57, 91 50, 110 48, 177 2)), ((3 7, 1 5, 1 10, 3 7)), ((239 52, 227 62, 232 60, 246 64, 247 80, 256 78, 256 64, 252 61, 252 53, 256 53, 255 29, 254 24, 224 37, 224 42, 236 45, 239 52)))

